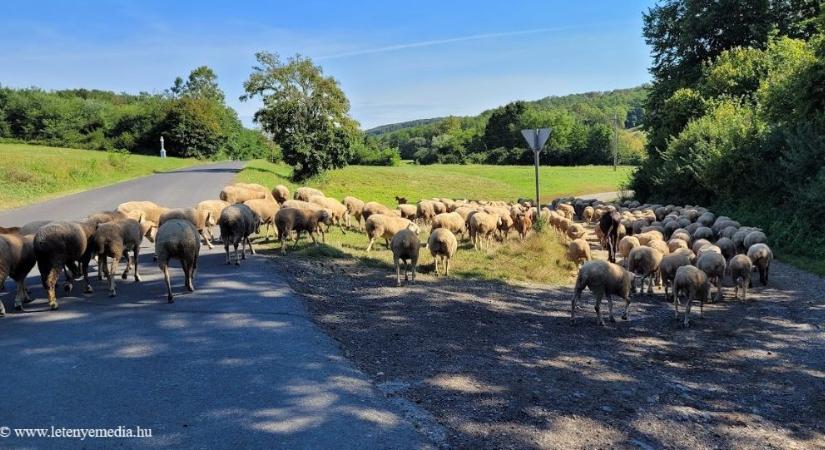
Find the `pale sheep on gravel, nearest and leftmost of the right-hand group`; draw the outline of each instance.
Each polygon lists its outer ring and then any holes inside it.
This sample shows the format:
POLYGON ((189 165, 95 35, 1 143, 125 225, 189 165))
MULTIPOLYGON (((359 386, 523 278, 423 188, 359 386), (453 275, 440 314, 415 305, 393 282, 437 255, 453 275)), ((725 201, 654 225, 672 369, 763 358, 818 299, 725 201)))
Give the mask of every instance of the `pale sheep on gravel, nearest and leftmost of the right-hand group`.
POLYGON ((630 289, 632 285, 633 274, 618 264, 601 260, 585 263, 576 277, 576 288, 570 305, 570 323, 576 323, 576 302, 581 298, 581 293, 584 288, 590 288, 590 292, 592 292, 596 298, 597 323, 605 326, 601 312, 602 297, 604 296, 607 296, 608 317, 611 322, 616 321, 613 317, 613 295, 618 295, 624 299, 625 307, 622 313, 622 319, 627 320, 627 313, 630 308, 630 289))

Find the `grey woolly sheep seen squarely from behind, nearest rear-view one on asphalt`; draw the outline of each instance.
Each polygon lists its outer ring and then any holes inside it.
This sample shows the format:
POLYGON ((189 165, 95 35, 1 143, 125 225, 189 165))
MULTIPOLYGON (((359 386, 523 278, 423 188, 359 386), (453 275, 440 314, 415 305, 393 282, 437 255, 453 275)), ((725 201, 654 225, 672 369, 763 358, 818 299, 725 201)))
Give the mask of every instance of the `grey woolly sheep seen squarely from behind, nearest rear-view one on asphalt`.
MULTIPOLYGON (((230 206, 224 210, 224 214, 237 208, 237 205, 230 206)), ((221 228, 223 226, 222 223, 221 228)), ((155 254, 158 257, 158 267, 163 272, 163 279, 166 282, 166 300, 169 303, 175 301, 172 295, 172 283, 169 279, 169 260, 172 258, 180 260, 186 290, 194 292, 193 281, 201 248, 199 241, 198 230, 188 220, 170 219, 158 228, 158 234, 155 237, 155 254)), ((224 239, 224 242, 228 241, 224 239)))

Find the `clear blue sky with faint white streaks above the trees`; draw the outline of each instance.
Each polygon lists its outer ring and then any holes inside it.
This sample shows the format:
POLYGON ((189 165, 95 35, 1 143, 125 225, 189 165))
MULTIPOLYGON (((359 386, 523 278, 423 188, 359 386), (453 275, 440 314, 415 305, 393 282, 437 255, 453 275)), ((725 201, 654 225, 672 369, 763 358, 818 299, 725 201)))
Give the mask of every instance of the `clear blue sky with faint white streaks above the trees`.
POLYGON ((649 81, 642 12, 622 1, 36 1, 0 6, 0 85, 162 92, 200 65, 241 102, 255 52, 300 53, 368 129, 649 81))

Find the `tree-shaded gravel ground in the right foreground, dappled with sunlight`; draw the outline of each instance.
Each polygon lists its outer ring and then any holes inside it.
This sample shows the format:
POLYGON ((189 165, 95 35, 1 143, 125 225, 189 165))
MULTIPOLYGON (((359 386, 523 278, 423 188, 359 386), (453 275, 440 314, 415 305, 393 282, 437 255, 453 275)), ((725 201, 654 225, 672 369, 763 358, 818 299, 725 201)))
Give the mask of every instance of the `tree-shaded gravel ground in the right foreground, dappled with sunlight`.
POLYGON ((569 288, 397 288, 352 260, 274 260, 348 358, 446 429, 443 447, 825 448, 825 280, 781 263, 683 329, 661 290, 607 327, 586 294, 571 326, 569 288))

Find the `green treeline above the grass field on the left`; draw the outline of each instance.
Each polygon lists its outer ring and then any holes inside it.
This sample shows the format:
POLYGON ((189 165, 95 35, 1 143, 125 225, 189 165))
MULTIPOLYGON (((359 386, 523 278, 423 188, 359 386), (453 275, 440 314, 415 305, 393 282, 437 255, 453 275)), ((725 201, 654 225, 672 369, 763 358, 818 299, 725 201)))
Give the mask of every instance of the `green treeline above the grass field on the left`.
POLYGON ((217 77, 199 67, 162 94, 0 87, 0 138, 169 156, 277 159, 278 149, 243 127, 217 77))

